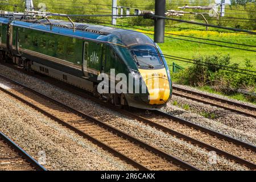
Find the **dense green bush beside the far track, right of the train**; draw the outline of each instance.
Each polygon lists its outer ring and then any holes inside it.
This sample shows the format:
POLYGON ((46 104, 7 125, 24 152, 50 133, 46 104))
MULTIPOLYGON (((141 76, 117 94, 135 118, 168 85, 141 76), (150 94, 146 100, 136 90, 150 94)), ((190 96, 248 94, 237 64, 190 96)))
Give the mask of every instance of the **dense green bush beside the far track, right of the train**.
MULTIPOLYGON (((179 83, 204 86, 210 85, 219 92, 230 94, 236 92, 239 88, 244 88, 250 91, 256 91, 256 77, 238 73, 236 68, 240 68, 237 63, 230 63, 229 55, 210 55, 194 57, 195 63, 185 71, 174 75, 179 83), (222 66, 220 66, 222 65, 222 66), (226 67, 232 67, 232 71, 226 67)), ((245 61, 246 71, 244 73, 251 73, 253 65, 250 60, 245 61)))

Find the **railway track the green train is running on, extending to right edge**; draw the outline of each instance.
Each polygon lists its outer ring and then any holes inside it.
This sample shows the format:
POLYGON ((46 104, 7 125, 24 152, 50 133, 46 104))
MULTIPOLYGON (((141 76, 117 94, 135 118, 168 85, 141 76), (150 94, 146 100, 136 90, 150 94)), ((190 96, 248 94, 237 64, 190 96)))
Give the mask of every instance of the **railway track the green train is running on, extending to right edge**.
POLYGON ((153 121, 152 118, 154 117, 152 117, 152 114, 147 116, 148 118, 146 116, 143 117, 143 114, 134 114, 131 113, 131 111, 123 110, 119 107, 109 105, 108 103, 102 100, 98 100, 98 98, 86 94, 84 90, 77 89, 74 86, 64 84, 63 82, 57 82, 55 79, 49 77, 41 77, 38 75, 34 76, 41 80, 49 82, 50 84, 58 86, 61 89, 68 90, 69 92, 78 94, 81 97, 97 102, 102 106, 108 107, 110 109, 118 111, 119 113, 125 114, 128 117, 137 119, 138 121, 146 123, 147 125, 155 127, 156 129, 162 130, 172 135, 176 135, 177 137, 187 140, 188 142, 207 148, 207 150, 216 151, 217 154, 220 154, 228 159, 241 163, 247 167, 250 167, 251 169, 256 169, 254 160, 246 160, 248 156, 250 156, 252 159, 256 159, 255 146, 252 146, 251 144, 242 142, 227 135, 196 125, 195 123, 186 121, 184 119, 176 118, 168 113, 163 113, 162 111, 154 111, 154 114, 156 115, 156 117, 158 117, 158 120, 162 121, 162 119, 165 118, 167 122, 163 123, 153 121), (168 124, 165 125, 166 123, 168 124), (187 133, 184 131, 186 131, 187 133), (190 135, 190 133, 194 135, 190 135), (195 139, 196 137, 197 139, 195 139), (204 141, 205 138, 210 138, 210 140, 204 141), (229 147, 228 149, 231 150, 227 150, 227 148, 223 146, 227 146, 229 147), (239 154, 236 154, 236 152, 232 151, 232 148, 235 148, 241 152, 238 152, 239 154))

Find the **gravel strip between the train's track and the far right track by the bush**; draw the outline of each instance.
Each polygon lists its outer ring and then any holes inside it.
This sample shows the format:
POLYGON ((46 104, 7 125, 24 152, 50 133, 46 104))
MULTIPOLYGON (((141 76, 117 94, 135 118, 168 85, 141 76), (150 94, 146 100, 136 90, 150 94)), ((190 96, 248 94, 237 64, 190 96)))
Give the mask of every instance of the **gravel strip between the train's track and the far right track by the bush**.
POLYGON ((162 110, 243 142, 256 145, 256 119, 252 117, 179 96, 172 96, 172 100, 162 110), (176 106, 173 105, 174 101, 176 106), (181 108, 185 105, 189 106, 189 109, 181 108), (209 118, 204 116, 206 113, 209 118))

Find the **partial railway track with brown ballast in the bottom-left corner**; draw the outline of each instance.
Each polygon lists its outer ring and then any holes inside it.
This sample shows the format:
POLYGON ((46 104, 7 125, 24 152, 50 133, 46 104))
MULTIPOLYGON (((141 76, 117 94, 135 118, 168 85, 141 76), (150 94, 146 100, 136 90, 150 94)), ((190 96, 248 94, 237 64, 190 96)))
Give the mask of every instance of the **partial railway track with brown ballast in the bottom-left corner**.
POLYGON ((0 132, 0 171, 46 171, 35 159, 0 132))

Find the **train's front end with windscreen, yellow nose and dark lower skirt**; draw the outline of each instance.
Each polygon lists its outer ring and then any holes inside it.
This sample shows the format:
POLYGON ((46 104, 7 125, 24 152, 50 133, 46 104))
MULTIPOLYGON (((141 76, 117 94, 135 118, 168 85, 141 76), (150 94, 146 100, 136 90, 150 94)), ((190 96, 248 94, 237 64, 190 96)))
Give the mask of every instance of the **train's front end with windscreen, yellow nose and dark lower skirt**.
POLYGON ((146 86, 140 93, 127 94, 126 100, 130 106, 142 109, 159 109, 166 105, 171 98, 171 77, 166 60, 159 56, 158 47, 141 45, 131 47, 131 53, 141 77, 141 87, 146 86))

